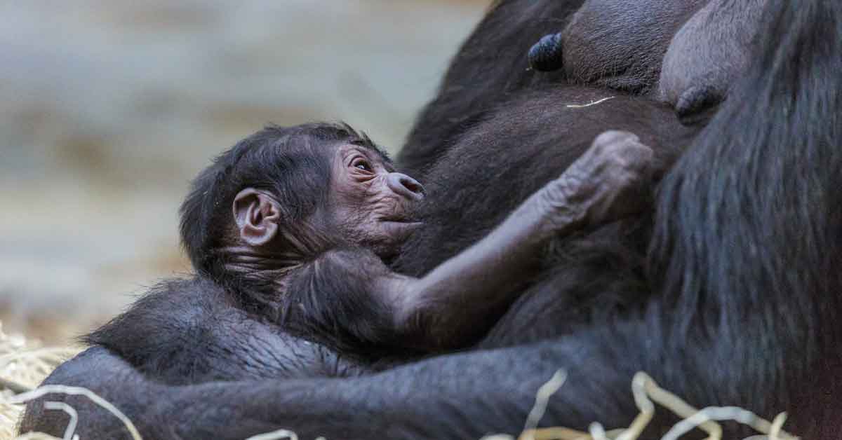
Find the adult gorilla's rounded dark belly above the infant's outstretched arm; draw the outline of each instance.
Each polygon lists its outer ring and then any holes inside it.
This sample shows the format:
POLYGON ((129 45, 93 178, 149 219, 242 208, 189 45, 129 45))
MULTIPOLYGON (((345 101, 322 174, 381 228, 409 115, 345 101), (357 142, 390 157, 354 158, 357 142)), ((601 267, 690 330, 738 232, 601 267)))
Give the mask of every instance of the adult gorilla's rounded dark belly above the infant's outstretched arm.
POLYGON ((661 174, 697 131, 680 125, 665 105, 616 91, 544 85, 519 93, 489 109, 430 167, 429 197, 419 213, 424 230, 394 266, 418 276, 485 236, 605 130, 640 136, 661 174))

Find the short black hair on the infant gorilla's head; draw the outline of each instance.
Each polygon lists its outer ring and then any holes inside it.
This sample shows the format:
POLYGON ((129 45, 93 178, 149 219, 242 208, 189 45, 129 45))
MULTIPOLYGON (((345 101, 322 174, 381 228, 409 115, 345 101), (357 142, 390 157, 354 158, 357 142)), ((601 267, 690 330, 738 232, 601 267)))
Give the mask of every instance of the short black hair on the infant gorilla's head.
POLYGON ((181 206, 181 241, 194 268, 216 280, 225 278, 224 255, 214 250, 232 235, 231 206, 246 183, 280 194, 286 228, 325 206, 333 155, 327 146, 339 140, 376 149, 348 125, 270 125, 216 157, 194 179, 181 206))

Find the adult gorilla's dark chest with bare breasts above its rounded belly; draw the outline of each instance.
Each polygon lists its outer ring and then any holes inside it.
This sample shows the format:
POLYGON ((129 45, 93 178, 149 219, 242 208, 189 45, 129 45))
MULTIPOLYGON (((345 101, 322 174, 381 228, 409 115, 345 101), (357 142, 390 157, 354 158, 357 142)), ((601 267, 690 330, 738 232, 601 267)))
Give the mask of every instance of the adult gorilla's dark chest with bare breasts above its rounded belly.
POLYGON ((546 84, 588 83, 670 103, 685 117, 704 113, 746 70, 765 4, 498 1, 451 62, 399 162, 420 176, 499 103, 546 84), (528 63, 555 72, 525 69, 528 63))

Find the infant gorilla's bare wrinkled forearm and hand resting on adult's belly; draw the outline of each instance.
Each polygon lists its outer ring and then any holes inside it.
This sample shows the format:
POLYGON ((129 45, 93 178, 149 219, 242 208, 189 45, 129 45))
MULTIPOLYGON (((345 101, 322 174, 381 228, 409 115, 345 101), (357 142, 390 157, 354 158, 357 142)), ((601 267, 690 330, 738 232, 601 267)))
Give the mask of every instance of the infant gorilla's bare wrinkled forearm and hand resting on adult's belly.
POLYGON ((636 135, 605 132, 560 178, 533 194, 491 234, 424 278, 380 269, 368 273, 376 297, 372 300, 381 303, 371 310, 388 314, 392 322, 386 328, 404 344, 465 347, 514 300, 514 288, 535 266, 546 239, 642 208, 639 192, 652 158, 653 151, 636 135))

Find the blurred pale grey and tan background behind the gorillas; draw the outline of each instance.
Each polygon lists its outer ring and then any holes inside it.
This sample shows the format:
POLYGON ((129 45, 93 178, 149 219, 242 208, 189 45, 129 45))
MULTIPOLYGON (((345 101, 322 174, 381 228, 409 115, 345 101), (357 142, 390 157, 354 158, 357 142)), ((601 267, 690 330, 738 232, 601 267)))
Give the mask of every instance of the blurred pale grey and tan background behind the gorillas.
POLYGON ((3 329, 70 342, 189 273, 189 180, 268 122, 397 151, 489 3, 0 2, 3 329))

